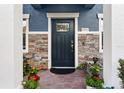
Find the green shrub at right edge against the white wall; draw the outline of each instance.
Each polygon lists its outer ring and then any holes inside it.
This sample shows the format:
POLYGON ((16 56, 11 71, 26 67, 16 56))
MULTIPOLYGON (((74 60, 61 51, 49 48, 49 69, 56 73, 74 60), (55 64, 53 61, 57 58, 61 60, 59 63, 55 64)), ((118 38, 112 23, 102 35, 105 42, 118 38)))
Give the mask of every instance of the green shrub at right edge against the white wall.
POLYGON ((119 77, 122 81, 122 87, 124 88, 124 59, 119 59, 119 65, 120 67, 118 68, 119 70, 119 77))

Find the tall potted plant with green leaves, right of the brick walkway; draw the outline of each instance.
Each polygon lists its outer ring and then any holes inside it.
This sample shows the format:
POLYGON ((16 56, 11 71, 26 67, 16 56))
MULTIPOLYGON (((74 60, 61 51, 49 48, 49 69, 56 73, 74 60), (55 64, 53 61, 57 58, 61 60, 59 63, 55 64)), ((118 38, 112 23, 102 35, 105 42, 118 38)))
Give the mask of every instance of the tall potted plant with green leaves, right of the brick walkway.
POLYGON ((102 68, 96 62, 90 64, 86 77, 87 89, 102 89, 104 80, 100 77, 102 68))

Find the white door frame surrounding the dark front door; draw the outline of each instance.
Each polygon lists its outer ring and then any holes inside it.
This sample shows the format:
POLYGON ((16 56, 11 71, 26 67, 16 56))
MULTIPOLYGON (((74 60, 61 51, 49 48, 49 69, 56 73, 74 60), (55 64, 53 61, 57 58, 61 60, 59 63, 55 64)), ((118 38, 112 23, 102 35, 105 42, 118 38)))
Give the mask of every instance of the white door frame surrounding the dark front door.
POLYGON ((74 18, 75 21, 75 68, 78 66, 78 17, 79 13, 47 13, 48 17, 48 68, 52 67, 51 56, 51 19, 52 18, 74 18))

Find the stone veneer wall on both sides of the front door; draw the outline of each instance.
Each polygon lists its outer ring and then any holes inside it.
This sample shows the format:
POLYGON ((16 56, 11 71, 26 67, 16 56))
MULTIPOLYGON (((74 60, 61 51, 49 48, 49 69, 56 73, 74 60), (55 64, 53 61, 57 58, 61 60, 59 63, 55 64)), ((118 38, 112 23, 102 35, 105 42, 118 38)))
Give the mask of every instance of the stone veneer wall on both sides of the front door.
MULTIPOLYGON (((30 58, 35 65, 48 63, 48 35, 29 34, 29 52, 24 53, 24 57, 30 58)), ((98 34, 78 35, 78 59, 79 63, 92 61, 93 57, 100 58, 102 63, 102 53, 99 53, 98 34)))

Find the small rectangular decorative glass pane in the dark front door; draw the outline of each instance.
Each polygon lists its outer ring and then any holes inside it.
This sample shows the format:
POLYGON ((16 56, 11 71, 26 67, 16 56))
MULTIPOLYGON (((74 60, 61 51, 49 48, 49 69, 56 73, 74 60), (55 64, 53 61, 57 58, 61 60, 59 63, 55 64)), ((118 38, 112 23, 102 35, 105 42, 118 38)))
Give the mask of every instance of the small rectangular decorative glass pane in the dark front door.
POLYGON ((57 32, 67 32, 69 31, 69 23, 56 23, 57 32))

